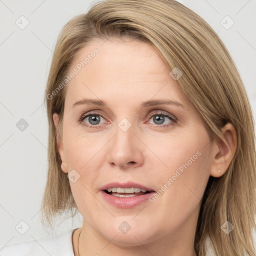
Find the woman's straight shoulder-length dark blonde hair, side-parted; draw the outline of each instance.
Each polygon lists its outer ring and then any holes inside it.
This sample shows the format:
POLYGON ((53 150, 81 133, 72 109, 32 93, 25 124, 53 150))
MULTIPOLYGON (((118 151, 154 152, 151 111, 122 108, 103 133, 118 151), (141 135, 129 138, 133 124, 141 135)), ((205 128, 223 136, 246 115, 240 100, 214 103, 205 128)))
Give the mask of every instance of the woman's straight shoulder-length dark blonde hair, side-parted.
POLYGON ((205 254, 209 236, 216 255, 254 255, 252 230, 255 228, 255 144, 253 117, 237 69, 214 30, 196 13, 174 0, 105 0, 87 13, 72 18, 63 27, 54 49, 45 101, 49 121, 48 174, 42 200, 44 225, 53 217, 77 206, 69 180, 61 170, 57 132, 52 114, 62 117, 66 86, 54 91, 68 73, 74 56, 95 38, 128 36, 157 49, 170 70, 178 67, 183 75, 180 88, 199 111, 212 139, 224 139, 220 128, 233 124, 237 148, 226 172, 210 176, 201 202, 194 248, 205 254), (51 96, 49 96, 51 95, 51 96), (228 220, 234 229, 225 234, 221 225, 228 220))

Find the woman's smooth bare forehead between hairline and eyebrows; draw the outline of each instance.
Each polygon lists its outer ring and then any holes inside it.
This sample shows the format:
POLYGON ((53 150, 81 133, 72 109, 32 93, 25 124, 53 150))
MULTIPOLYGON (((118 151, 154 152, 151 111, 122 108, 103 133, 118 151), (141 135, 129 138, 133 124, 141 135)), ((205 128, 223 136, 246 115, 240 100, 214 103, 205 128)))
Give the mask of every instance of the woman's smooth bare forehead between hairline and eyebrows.
POLYGON ((119 103, 144 101, 156 94, 184 97, 157 50, 142 41, 93 40, 73 59, 69 70, 74 68, 77 73, 68 82, 67 103, 83 97, 119 103))

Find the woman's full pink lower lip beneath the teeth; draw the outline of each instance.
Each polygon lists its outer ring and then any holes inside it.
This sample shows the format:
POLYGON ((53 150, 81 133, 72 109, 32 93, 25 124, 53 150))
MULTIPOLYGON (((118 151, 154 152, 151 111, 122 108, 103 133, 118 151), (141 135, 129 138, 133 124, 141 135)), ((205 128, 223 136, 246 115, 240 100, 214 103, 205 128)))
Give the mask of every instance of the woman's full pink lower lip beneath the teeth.
POLYGON ((148 198, 153 194, 154 192, 149 192, 146 194, 140 194, 135 195, 131 197, 117 197, 111 194, 107 194, 104 191, 101 191, 101 194, 108 203, 112 204, 113 206, 119 207, 119 208, 131 208, 136 205, 139 205, 145 201, 148 200, 148 198))

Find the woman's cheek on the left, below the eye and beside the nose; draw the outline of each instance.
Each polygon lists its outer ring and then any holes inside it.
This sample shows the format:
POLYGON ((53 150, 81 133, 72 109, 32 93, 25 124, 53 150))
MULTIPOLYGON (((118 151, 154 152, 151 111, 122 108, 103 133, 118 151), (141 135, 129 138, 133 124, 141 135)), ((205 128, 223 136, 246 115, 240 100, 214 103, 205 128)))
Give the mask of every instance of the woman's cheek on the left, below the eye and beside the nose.
POLYGON ((75 176, 74 182, 69 180, 71 191, 80 212, 87 212, 88 208, 98 207, 92 191, 95 181, 100 178, 98 170, 101 168, 102 159, 105 159, 102 155, 102 147, 107 139, 102 135, 76 133, 72 129, 67 130, 64 135, 63 146, 67 169, 68 172, 75 170, 72 172, 75 176))

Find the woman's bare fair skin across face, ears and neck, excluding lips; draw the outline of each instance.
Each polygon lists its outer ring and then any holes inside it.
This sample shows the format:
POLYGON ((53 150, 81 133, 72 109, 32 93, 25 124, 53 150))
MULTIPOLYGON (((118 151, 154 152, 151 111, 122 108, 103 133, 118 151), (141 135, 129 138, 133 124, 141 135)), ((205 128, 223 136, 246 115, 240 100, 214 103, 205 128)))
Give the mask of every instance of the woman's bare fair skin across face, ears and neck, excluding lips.
MULTIPOLYGON (((231 161, 236 148, 234 127, 228 123, 222 128, 225 143, 211 141, 200 115, 152 46, 134 39, 103 42, 91 41, 70 66, 72 70, 94 48, 99 50, 68 83, 63 137, 58 141, 62 171, 75 169, 80 175, 70 182, 83 216, 82 229, 72 236, 74 254, 78 255, 82 230, 80 256, 196 255, 193 243, 202 195, 209 176, 223 175, 231 161), (107 107, 72 107, 82 98, 101 99, 107 107), (175 100, 183 107, 140 108, 142 101, 150 99, 175 100), (77 121, 89 111, 100 115, 99 124, 88 117, 77 121), (174 115, 176 121, 164 117, 157 122, 154 116, 161 111, 174 115), (127 131, 118 127, 122 118, 131 124, 127 131), (100 194, 100 187, 108 182, 130 180, 157 191, 198 151, 200 156, 154 202, 118 208, 100 194), (118 229, 122 221, 131 226, 125 234, 118 229)), ((57 127, 56 113, 53 120, 57 127)))

